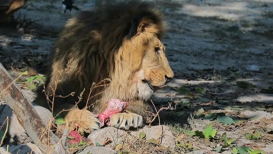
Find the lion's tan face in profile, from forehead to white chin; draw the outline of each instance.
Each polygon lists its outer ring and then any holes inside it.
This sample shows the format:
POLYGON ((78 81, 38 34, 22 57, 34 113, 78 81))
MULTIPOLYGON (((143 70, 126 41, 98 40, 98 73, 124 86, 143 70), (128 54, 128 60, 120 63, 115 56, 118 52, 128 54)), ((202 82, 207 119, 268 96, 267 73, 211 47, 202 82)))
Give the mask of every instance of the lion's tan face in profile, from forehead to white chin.
POLYGON ((166 86, 174 76, 165 49, 164 44, 157 37, 146 44, 137 83, 138 95, 144 100, 148 100, 157 89, 166 86))

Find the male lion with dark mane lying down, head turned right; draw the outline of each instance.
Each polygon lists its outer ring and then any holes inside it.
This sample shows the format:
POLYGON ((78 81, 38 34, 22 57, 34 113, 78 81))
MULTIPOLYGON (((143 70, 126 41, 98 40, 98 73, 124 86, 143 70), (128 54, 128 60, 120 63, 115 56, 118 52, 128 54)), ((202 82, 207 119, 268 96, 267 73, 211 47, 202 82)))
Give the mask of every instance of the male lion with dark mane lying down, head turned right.
MULTIPOLYGON (((54 87, 55 96, 75 92, 74 96, 55 97, 54 109, 62 110, 71 107, 67 103, 78 102, 84 90, 78 108, 68 111, 65 120, 83 121, 91 130, 100 129, 96 114, 106 109, 110 99, 129 102, 127 113, 114 114, 109 125, 122 129, 139 127, 149 107, 148 99, 174 76, 161 42, 166 24, 160 11, 147 2, 107 3, 94 11, 79 13, 65 25, 52 54, 46 93, 52 95, 54 87), (60 73, 71 58, 68 73, 60 73), (83 109, 92 83, 105 78, 111 79, 109 85, 96 88, 90 95, 97 94, 88 101, 96 102, 89 109, 93 113, 83 109)), ((45 96, 42 89, 38 90, 38 98, 45 96)), ((36 102, 48 107, 42 99, 36 102)))

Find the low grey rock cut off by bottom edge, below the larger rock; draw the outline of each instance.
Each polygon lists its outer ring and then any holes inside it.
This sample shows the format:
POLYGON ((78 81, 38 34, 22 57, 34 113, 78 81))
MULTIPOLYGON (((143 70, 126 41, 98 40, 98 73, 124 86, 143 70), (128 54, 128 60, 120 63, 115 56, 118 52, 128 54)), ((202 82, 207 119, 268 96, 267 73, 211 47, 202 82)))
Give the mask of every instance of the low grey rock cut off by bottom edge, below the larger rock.
POLYGON ((117 152, 109 147, 95 147, 95 146, 89 146, 86 147, 82 152, 78 154, 117 154, 117 152))

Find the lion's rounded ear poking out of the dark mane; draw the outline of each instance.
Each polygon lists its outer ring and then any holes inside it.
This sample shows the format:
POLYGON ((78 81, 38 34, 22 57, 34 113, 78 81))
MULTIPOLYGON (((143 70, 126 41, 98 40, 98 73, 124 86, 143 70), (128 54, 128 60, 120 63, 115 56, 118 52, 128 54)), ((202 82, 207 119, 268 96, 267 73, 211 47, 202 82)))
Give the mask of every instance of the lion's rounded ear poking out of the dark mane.
POLYGON ((145 28, 154 23, 151 19, 145 16, 136 17, 131 21, 131 28, 128 34, 128 38, 132 38, 139 33, 145 32, 145 28))

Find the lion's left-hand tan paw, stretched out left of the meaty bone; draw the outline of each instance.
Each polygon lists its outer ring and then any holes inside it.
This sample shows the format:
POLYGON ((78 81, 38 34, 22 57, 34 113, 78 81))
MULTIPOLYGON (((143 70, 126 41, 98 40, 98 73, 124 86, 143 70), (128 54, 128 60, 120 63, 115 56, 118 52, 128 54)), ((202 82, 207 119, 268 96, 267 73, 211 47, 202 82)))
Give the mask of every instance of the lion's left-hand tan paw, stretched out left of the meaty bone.
POLYGON ((78 121, 84 122, 91 131, 100 129, 102 126, 100 119, 88 110, 73 109, 65 116, 66 122, 78 121))

